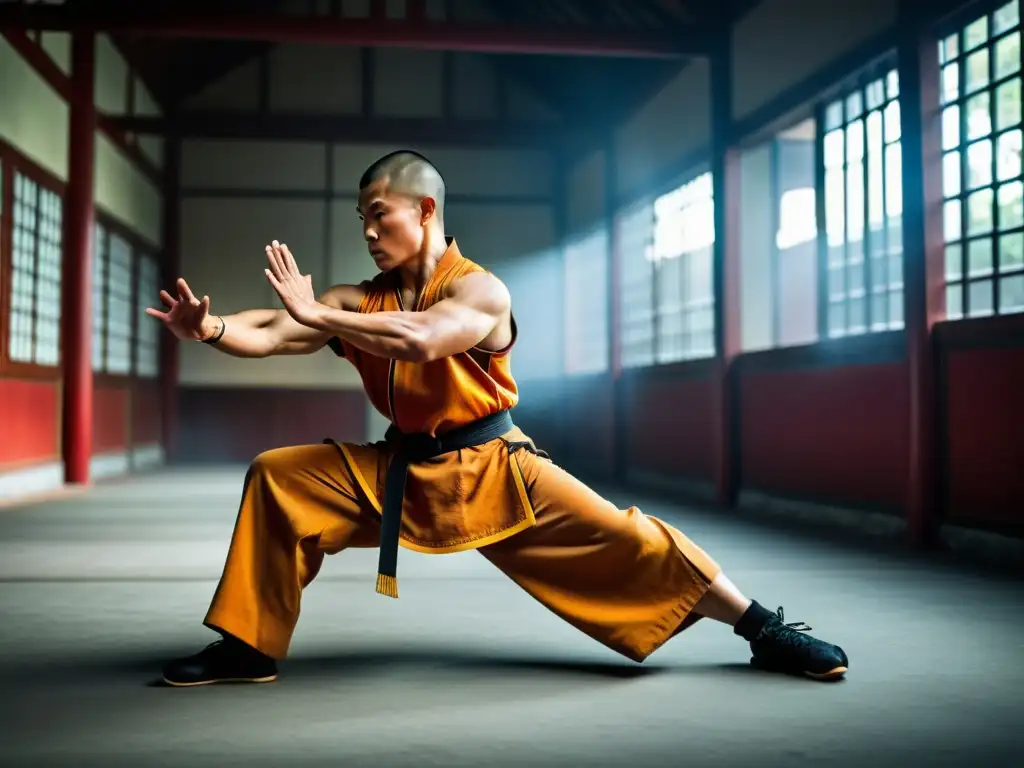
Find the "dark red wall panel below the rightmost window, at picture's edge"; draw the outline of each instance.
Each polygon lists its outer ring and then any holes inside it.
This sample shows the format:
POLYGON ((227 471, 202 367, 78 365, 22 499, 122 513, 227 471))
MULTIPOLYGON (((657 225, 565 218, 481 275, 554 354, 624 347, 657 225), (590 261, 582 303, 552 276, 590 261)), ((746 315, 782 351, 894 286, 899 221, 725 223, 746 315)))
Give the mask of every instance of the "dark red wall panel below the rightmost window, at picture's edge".
POLYGON ((1024 348, 948 353, 950 520, 1024 522, 1024 348))

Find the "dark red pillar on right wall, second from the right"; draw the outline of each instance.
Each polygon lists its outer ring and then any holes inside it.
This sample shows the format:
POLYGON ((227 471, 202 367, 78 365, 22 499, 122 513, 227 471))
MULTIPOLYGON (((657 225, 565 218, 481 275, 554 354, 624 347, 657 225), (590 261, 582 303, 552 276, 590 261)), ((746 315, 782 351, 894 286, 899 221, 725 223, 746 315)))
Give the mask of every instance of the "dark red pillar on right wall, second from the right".
POLYGON ((739 153, 732 134, 732 36, 727 23, 711 55, 711 171, 715 195, 714 452, 719 504, 731 507, 739 488, 739 424, 735 368, 740 350, 739 153))

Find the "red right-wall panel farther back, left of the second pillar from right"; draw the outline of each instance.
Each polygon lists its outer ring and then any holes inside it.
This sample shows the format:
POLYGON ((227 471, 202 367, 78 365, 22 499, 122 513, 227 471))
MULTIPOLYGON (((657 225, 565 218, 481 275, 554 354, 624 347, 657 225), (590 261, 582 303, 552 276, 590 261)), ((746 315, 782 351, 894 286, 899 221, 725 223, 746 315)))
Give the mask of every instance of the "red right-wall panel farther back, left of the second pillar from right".
POLYGON ((708 376, 636 376, 627 408, 629 469, 714 479, 713 396, 708 376))

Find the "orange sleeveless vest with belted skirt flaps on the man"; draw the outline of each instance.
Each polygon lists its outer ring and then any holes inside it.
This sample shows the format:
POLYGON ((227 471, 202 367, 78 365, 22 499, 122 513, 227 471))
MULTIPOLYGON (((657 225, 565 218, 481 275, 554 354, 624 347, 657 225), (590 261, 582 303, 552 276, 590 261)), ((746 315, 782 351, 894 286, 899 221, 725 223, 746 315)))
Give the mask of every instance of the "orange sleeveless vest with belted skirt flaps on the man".
MULTIPOLYGON (((483 267, 463 257, 455 240, 424 286, 413 311, 440 301, 451 283, 483 267)), ((365 284, 360 312, 402 311, 393 273, 365 284)), ((505 349, 473 348, 430 362, 369 354, 332 340, 359 373, 373 406, 399 430, 437 435, 507 411, 519 399, 511 371, 513 339, 505 349)), ((515 452, 529 438, 518 428, 482 445, 445 454, 410 467, 402 506, 400 543, 428 553, 459 552, 495 544, 535 524, 515 452), (518 444, 518 445, 517 445, 518 444)), ((379 514, 391 458, 386 442, 344 443, 342 456, 367 501, 379 514)))

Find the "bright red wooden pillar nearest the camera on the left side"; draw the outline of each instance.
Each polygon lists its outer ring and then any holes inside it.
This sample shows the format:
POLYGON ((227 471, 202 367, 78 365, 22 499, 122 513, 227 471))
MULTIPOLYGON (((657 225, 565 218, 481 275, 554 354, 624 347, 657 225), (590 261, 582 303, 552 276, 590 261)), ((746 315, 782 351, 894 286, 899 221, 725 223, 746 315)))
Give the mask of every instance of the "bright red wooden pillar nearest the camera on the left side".
POLYGON ((65 481, 89 481, 92 457, 92 190, 96 110, 95 35, 72 35, 71 116, 65 218, 65 481))

